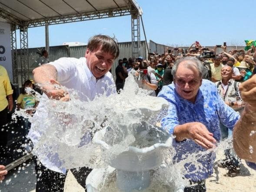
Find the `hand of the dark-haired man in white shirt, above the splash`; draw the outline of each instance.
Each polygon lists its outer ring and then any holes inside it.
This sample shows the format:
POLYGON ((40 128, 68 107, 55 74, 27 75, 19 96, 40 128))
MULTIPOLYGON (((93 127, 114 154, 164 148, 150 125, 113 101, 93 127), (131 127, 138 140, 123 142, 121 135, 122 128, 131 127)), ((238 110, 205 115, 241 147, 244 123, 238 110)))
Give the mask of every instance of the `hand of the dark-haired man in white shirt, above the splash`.
POLYGON ((46 94, 49 98, 57 99, 61 101, 69 101, 69 93, 62 89, 60 83, 53 78, 50 79, 50 83, 54 86, 53 89, 46 90, 46 94))

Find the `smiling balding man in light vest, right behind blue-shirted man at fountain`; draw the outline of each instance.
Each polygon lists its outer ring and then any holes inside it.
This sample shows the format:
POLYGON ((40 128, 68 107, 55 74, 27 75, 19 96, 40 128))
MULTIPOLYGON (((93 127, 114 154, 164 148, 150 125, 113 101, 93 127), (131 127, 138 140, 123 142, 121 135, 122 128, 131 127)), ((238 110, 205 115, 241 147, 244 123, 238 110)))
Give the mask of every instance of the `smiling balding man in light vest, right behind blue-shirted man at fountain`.
MULTIPOLYGON (((244 102, 240 96, 239 82, 232 78, 232 74, 233 68, 229 65, 225 65, 221 69, 222 80, 217 81, 215 84, 219 91, 219 95, 225 104, 241 114, 243 111, 244 102)), ((223 124, 220 124, 220 130, 222 140, 232 137, 232 132, 229 131, 228 127, 224 126, 223 124)), ((239 159, 237 156, 231 153, 231 150, 232 149, 225 150, 226 159, 220 160, 218 162, 218 166, 227 168, 229 170, 227 175, 234 177, 239 173, 240 166, 239 159)))

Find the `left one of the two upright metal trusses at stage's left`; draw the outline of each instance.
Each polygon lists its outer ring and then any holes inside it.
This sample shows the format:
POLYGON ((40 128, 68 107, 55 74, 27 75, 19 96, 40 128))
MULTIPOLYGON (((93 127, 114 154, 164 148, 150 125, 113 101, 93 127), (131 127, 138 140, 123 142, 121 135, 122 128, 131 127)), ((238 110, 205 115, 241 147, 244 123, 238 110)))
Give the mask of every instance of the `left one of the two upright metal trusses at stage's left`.
POLYGON ((12 47, 12 63, 13 63, 13 83, 18 83, 18 65, 17 65, 17 36, 16 27, 11 25, 11 47, 12 47))

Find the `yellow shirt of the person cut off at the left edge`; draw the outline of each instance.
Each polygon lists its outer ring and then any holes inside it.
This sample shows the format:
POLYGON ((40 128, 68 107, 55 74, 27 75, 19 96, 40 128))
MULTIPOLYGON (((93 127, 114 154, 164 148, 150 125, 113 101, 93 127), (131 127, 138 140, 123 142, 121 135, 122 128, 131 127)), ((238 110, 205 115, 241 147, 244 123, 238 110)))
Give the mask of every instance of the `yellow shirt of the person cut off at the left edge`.
POLYGON ((7 107, 8 101, 6 96, 9 94, 13 94, 10 79, 6 69, 0 65, 0 111, 7 107))

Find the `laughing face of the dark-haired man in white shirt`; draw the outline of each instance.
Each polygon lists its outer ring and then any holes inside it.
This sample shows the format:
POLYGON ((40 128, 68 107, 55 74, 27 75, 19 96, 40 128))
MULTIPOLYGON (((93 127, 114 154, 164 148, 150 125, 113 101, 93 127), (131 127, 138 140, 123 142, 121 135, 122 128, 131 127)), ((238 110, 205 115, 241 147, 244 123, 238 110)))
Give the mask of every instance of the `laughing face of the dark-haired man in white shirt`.
POLYGON ((85 58, 86 64, 94 77, 100 78, 105 75, 111 68, 115 58, 109 52, 101 50, 101 46, 92 52, 86 49, 85 58))

